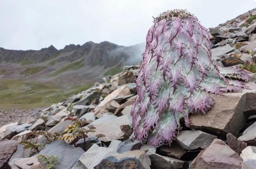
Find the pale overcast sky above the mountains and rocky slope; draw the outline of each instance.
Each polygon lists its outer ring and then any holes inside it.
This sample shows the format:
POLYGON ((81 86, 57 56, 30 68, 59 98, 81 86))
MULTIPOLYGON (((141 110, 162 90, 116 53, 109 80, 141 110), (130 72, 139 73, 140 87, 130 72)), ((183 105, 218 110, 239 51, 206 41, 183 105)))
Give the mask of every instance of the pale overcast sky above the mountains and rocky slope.
POLYGON ((152 16, 188 9, 206 28, 256 8, 254 0, 0 0, 0 47, 57 49, 67 44, 109 41, 130 46, 145 41, 152 16))

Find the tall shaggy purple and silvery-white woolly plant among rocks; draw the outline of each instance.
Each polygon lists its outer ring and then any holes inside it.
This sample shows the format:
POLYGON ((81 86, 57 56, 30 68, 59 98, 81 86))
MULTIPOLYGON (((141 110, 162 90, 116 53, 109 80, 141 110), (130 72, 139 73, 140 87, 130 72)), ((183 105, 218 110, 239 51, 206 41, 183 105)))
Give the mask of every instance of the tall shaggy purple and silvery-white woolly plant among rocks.
POLYGON ((186 10, 154 18, 146 41, 131 115, 135 137, 153 147, 171 144, 181 118, 189 126, 189 113, 202 115, 212 109, 210 94, 241 92, 244 84, 231 77, 249 78, 237 67, 216 65, 207 29, 186 10))

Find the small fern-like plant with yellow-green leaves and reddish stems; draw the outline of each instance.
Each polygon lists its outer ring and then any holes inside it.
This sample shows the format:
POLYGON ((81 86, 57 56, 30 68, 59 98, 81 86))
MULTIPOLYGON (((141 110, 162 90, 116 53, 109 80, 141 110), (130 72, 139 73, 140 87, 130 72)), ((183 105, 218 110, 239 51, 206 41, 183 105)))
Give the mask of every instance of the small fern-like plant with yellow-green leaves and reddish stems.
MULTIPOLYGON (((66 129, 64 130, 64 135, 62 135, 60 140, 72 142, 73 145, 76 147, 76 142, 78 141, 78 139, 83 138, 83 149, 85 150, 85 138, 87 137, 88 133, 95 132, 96 128, 93 125, 83 127, 85 125, 85 120, 78 119, 77 117, 68 117, 65 120, 74 121, 74 123, 66 127, 66 129)), ((99 137, 104 137, 104 135, 99 135, 99 137)))

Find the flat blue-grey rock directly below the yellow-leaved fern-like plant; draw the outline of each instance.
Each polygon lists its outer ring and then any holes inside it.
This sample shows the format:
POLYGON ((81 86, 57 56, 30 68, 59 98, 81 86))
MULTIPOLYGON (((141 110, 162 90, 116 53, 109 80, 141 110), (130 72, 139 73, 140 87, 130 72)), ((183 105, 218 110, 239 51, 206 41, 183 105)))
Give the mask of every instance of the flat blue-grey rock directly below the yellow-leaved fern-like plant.
POLYGON ((80 147, 68 145, 65 141, 53 141, 40 151, 43 155, 53 155, 58 157, 56 169, 70 169, 78 159, 85 153, 80 147))

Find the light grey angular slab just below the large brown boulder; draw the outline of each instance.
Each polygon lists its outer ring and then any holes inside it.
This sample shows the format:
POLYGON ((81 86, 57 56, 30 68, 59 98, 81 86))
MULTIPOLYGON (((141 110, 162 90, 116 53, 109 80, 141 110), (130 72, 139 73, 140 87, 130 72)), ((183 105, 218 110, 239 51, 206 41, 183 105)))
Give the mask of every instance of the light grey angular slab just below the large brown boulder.
POLYGON ((213 139, 217 139, 217 136, 196 130, 180 131, 176 141, 184 149, 193 150, 198 148, 205 149, 206 147, 209 147, 213 139))

